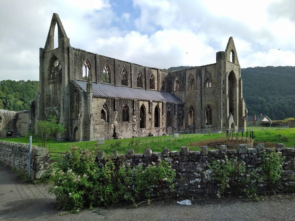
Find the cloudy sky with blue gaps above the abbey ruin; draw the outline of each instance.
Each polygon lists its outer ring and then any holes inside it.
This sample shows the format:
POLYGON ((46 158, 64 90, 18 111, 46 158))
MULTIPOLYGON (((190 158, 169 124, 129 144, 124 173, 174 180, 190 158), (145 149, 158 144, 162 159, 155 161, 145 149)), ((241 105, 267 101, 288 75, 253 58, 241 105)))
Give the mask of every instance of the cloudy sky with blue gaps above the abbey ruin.
POLYGON ((295 66, 294 0, 0 3, 0 80, 39 80, 39 48, 53 13, 72 47, 143 66, 215 63, 231 36, 242 68, 295 66))

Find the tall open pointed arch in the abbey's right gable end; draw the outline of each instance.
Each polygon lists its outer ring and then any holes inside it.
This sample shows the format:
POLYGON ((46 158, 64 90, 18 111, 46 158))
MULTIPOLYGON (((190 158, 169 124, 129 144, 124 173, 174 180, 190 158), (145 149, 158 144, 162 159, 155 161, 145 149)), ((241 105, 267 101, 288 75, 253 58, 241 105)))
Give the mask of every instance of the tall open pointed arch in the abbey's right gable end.
POLYGON ((234 123, 236 123, 237 116, 237 79, 232 70, 228 75, 228 116, 233 116, 234 123))

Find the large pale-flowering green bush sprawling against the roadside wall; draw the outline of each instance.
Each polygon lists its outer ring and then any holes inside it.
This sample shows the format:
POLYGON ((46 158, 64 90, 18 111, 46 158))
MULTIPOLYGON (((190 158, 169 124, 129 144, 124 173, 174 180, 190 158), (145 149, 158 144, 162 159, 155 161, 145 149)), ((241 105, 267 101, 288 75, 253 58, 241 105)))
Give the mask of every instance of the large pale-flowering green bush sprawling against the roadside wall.
POLYGON ((55 195, 58 206, 69 212, 79 212, 84 205, 92 208, 122 200, 135 204, 137 199, 160 195, 164 188, 174 191, 175 170, 161 159, 144 169, 131 163, 115 166, 106 157, 104 166, 99 166, 96 151, 77 146, 70 146, 69 151, 52 166, 53 184, 47 189, 55 195))

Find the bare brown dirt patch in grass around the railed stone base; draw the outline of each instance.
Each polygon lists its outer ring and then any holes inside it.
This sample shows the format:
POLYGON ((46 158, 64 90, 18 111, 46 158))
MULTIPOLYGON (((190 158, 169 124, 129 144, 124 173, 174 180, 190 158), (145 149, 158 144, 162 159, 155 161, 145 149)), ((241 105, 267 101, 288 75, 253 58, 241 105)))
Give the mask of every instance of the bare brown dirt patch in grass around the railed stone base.
MULTIPOLYGON (((210 139, 204 141, 196 141, 189 144, 189 146, 208 146, 209 148, 219 149, 220 145, 226 145, 226 138, 210 139)), ((264 144, 266 148, 276 148, 275 143, 254 141, 253 147, 255 148, 258 144, 264 144)), ((237 149, 235 147, 227 147, 229 150, 237 149)))

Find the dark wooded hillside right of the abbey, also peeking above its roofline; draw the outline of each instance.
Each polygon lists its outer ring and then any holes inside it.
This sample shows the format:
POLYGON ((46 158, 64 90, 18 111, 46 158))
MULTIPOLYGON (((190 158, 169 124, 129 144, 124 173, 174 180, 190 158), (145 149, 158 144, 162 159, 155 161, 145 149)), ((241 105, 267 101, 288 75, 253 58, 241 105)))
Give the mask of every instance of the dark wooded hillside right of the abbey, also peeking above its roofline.
MULTIPOLYGON (((168 70, 191 67, 171 67, 168 70)), ((249 116, 262 113, 272 120, 295 117, 295 67, 248 67, 242 68, 241 74, 249 116)))

